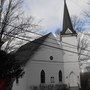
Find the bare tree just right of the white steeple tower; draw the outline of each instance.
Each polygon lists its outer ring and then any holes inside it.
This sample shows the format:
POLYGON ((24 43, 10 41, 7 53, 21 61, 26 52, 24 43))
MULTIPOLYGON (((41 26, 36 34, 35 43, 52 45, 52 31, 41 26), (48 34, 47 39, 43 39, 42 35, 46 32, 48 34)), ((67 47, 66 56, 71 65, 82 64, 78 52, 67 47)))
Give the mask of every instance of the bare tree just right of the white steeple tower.
POLYGON ((89 59, 88 56, 88 38, 84 33, 78 33, 78 61, 80 70, 83 70, 83 65, 85 65, 86 61, 89 59))

